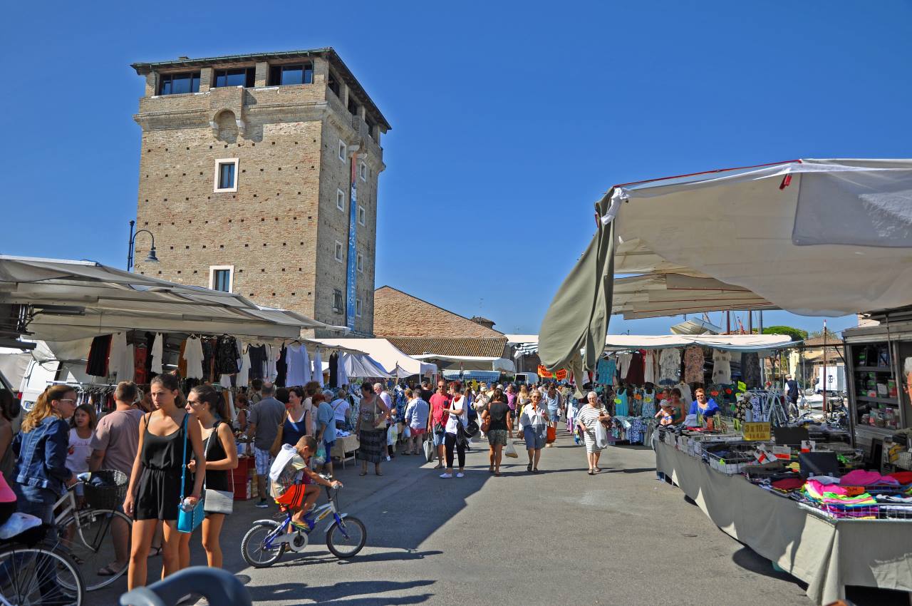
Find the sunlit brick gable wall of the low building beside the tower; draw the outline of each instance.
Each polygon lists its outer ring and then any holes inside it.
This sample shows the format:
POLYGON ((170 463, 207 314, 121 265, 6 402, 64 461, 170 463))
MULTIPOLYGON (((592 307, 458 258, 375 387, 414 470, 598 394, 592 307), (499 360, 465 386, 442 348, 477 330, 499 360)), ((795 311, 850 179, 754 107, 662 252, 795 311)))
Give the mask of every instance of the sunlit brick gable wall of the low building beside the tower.
POLYGON ((393 287, 379 287, 374 293, 374 333, 378 337, 503 338, 497 330, 393 287))

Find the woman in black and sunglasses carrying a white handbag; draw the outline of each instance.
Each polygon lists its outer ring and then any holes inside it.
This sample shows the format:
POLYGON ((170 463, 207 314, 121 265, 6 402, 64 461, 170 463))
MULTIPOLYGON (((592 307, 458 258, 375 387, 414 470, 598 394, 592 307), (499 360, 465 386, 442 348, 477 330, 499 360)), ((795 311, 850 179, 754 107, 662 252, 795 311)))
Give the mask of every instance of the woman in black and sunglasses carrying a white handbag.
MULTIPOLYGON (((192 413, 200 423, 202 448, 206 453, 206 490, 231 492, 232 469, 237 469, 237 447, 234 445, 234 434, 225 419, 228 418, 228 406, 222 393, 209 385, 194 387, 187 396, 187 411, 192 413)), ((189 465, 191 471, 196 469, 196 460, 189 465)), ((203 505, 203 508, 206 506, 203 505)), ((225 514, 206 512, 202 520, 202 549, 206 550, 206 561, 213 568, 222 568, 222 546, 219 535, 225 514)), ((181 537, 181 559, 183 554, 190 559, 190 537, 181 537)))

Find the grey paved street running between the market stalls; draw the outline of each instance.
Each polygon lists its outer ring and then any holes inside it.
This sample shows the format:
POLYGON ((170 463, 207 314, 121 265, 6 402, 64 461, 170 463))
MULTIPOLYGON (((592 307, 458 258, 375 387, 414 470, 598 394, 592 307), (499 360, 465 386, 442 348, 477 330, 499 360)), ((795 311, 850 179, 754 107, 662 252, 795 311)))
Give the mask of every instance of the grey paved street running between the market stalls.
MULTIPOLYGON (((647 448, 608 448, 606 471, 589 476, 583 449, 559 434, 543 451, 543 473, 527 474, 520 461, 493 477, 486 450, 476 448, 466 477, 451 480, 420 457, 396 457, 382 477, 359 477, 348 465, 337 474, 346 483, 340 504, 368 527, 368 544, 352 561, 333 558, 319 532, 305 556, 247 568, 240 540, 267 510, 238 503, 223 532, 225 567, 255 603, 275 606, 811 603, 799 582, 658 482, 647 448)), ((194 562, 203 563, 199 539, 192 545, 194 562)), ((119 580, 90 603, 116 603, 125 587, 119 580)), ((865 596, 861 603, 886 603, 865 596)))

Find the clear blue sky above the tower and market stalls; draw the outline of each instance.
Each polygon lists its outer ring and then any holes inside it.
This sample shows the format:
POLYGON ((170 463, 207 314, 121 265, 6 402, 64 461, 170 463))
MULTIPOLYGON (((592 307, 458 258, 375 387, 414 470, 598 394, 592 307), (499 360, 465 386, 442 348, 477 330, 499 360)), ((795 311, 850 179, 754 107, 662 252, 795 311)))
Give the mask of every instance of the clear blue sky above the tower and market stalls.
POLYGON ((4 253, 123 265, 143 90, 129 64, 181 55, 335 47, 393 126, 377 286, 505 332, 538 331, 613 183, 910 155, 907 2, 103 4, 5 9, 4 253))

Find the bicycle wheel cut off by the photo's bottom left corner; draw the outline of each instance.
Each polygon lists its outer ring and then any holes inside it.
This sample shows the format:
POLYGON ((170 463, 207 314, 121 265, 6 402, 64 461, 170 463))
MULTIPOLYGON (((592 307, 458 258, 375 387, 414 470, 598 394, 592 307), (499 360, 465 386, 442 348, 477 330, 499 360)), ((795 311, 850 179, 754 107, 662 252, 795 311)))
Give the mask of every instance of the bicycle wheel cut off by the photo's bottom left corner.
POLYGON ((16 606, 79 606, 86 590, 69 556, 41 547, 0 549, 0 602, 16 606))

